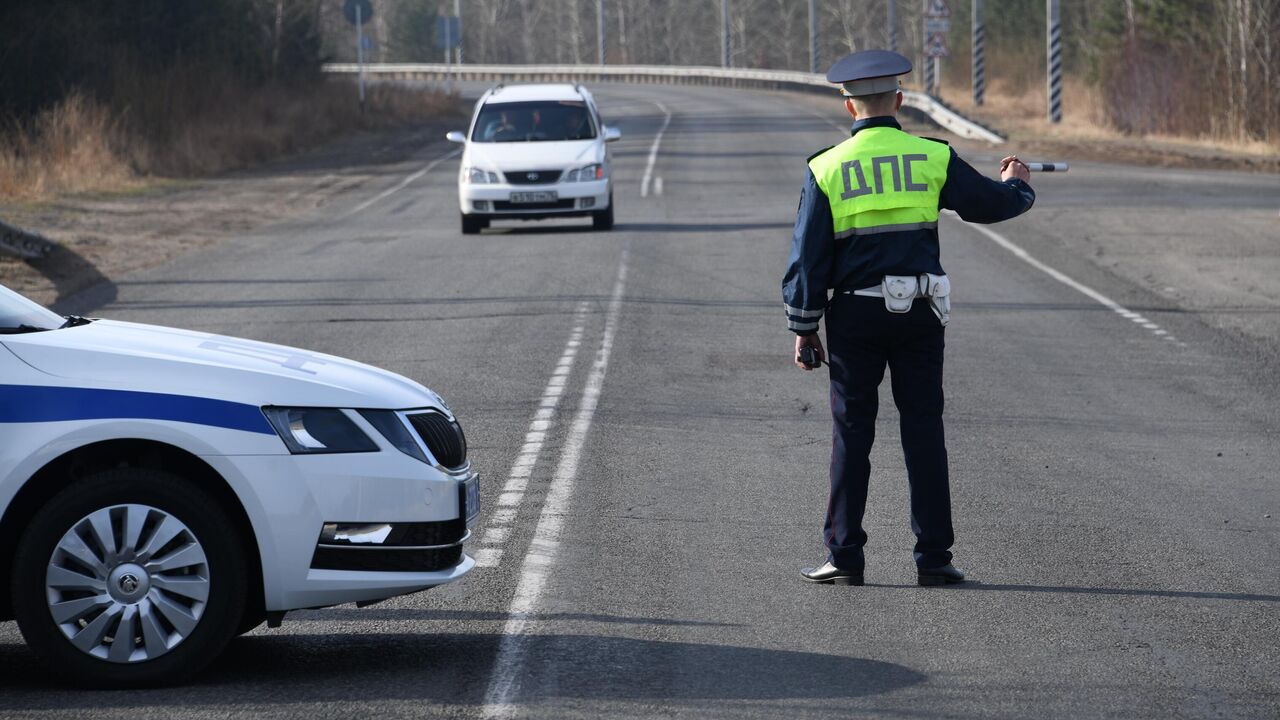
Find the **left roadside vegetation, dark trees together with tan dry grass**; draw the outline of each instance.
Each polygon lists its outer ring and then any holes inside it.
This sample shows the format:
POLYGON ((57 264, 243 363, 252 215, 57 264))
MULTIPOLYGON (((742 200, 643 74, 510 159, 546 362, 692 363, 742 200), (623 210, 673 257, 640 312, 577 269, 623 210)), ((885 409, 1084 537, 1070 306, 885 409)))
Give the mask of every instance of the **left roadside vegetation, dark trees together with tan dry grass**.
POLYGON ((261 163, 456 111, 380 86, 361 111, 320 64, 335 0, 0 3, 0 196, 116 188, 261 163))

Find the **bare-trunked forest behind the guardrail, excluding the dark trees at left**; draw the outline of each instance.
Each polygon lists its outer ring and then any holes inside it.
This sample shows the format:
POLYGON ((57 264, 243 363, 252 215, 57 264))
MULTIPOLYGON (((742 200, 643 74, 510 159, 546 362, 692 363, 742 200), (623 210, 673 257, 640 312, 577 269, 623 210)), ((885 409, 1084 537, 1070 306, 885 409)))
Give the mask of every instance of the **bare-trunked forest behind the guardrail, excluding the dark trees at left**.
MULTIPOLYGON (((893 0, 818 0, 819 64, 888 44, 893 0)), ((950 0, 943 94, 969 88, 970 0, 950 0)), ((375 59, 440 61, 438 13, 453 0, 374 0, 375 59)), ((1044 0, 986 0, 989 82, 1044 90, 1044 0)), ((721 64, 721 0, 461 0, 465 63, 721 64)), ((897 0, 899 49, 919 63, 922 0, 897 0)), ((728 0, 730 55, 742 68, 809 69, 806 0, 728 0)), ((1069 83, 1114 128, 1280 143, 1280 0, 1061 0, 1069 83)), ((346 33, 346 28, 339 28, 346 33)), ((351 59, 335 36, 328 53, 351 59)), ((1071 96, 1069 96, 1070 99, 1071 96)))

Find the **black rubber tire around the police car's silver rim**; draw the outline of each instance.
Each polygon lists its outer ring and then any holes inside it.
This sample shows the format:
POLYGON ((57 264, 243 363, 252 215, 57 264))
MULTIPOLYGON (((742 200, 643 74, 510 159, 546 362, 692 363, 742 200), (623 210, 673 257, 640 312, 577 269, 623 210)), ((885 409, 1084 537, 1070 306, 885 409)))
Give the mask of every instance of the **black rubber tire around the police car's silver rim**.
POLYGON ((244 612, 244 543, 218 500, 197 483, 160 470, 118 468, 78 480, 36 511, 18 543, 10 588, 18 628, 56 676, 95 688, 180 683, 202 670, 237 634, 244 612), (63 536, 87 515, 115 505, 155 507, 182 521, 205 552, 209 598, 195 629, 154 660, 109 662, 72 646, 54 623, 45 574, 63 536))

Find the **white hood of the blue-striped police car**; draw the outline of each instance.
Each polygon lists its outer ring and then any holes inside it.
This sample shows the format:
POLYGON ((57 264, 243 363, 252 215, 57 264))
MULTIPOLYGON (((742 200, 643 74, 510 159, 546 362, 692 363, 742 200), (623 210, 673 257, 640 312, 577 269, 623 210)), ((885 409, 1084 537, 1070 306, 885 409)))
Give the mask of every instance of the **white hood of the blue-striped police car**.
POLYGON ((362 363, 157 325, 96 320, 9 336, 4 343, 37 370, 93 387, 248 405, 443 407, 439 396, 421 384, 362 363))

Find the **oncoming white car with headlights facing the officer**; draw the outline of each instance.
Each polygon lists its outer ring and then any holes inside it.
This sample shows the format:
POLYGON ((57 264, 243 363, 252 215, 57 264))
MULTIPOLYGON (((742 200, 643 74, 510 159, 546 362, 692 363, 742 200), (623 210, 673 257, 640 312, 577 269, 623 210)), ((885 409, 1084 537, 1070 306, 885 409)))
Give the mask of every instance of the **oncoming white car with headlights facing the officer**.
POLYGON ((458 173, 465 234, 508 218, 589 215, 596 229, 613 227, 605 143, 622 133, 600 120, 582 86, 499 85, 480 96, 468 133, 445 137, 465 143, 458 173))

